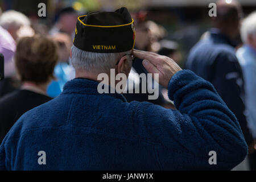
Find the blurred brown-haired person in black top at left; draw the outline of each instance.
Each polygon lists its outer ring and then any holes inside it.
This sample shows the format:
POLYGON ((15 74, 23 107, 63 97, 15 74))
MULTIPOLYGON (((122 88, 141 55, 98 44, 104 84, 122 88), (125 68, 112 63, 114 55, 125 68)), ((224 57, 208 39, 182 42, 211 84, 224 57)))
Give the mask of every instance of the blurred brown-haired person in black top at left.
POLYGON ((0 100, 0 142, 26 111, 51 100, 46 89, 57 63, 57 47, 43 36, 21 38, 15 52, 15 65, 22 86, 0 100))

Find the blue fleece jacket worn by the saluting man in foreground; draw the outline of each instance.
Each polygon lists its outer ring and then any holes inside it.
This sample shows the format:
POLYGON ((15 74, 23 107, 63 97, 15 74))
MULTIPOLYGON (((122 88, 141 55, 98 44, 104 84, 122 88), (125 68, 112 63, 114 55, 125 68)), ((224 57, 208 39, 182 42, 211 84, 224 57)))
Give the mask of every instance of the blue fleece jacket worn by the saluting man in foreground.
POLYGON ((0 169, 232 169, 247 155, 236 117, 212 84, 191 71, 169 82, 177 110, 99 94, 97 85, 76 78, 60 96, 23 114, 0 146, 0 169), (216 165, 209 151, 216 151, 216 165))

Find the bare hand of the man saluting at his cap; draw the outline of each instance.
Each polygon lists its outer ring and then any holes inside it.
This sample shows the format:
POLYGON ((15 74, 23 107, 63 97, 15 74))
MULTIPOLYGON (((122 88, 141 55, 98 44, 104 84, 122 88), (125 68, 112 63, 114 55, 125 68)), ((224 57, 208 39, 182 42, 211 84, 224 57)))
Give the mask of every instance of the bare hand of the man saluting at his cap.
POLYGON ((134 49, 132 54, 139 59, 143 59, 143 66, 149 73, 152 73, 153 77, 154 73, 159 74, 159 84, 163 85, 165 88, 168 88, 172 76, 174 76, 176 72, 181 71, 179 65, 170 57, 161 56, 153 52, 139 51, 137 49, 134 49))

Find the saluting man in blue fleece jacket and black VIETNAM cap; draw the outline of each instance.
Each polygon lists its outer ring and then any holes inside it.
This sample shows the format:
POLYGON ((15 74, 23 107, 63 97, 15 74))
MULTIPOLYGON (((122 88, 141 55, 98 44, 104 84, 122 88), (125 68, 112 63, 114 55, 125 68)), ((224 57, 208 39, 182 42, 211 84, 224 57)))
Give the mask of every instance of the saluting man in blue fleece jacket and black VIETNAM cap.
POLYGON ((245 159, 240 125, 213 85, 169 57, 133 50, 133 35, 125 7, 78 19, 71 55, 76 78, 18 119, 0 146, 0 169, 210 170, 245 159), (110 46, 97 46, 99 38, 110 46), (127 79, 131 53, 159 75, 177 110, 108 93, 120 80, 113 85, 105 78, 127 79))

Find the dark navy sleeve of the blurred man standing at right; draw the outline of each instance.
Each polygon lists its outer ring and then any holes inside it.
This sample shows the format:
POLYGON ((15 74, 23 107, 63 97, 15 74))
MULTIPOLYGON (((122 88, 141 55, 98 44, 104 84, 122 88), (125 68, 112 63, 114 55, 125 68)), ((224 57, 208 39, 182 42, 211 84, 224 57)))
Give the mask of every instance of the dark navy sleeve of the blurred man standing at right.
POLYGON ((242 69, 235 55, 222 52, 214 61, 218 69, 214 72, 212 84, 229 109, 236 115, 247 144, 253 142, 247 127, 244 104, 244 84, 242 69))

